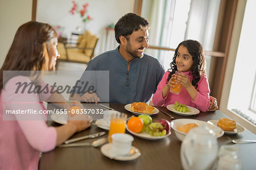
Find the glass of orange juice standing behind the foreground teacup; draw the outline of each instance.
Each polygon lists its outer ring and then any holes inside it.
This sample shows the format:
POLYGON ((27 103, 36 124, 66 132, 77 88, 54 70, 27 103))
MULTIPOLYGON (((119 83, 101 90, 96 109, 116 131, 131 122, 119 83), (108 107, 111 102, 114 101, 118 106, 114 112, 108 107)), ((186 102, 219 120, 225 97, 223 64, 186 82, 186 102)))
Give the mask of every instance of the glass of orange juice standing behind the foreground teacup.
POLYGON ((110 115, 109 143, 112 143, 112 135, 116 133, 125 133, 127 114, 113 113, 110 115))

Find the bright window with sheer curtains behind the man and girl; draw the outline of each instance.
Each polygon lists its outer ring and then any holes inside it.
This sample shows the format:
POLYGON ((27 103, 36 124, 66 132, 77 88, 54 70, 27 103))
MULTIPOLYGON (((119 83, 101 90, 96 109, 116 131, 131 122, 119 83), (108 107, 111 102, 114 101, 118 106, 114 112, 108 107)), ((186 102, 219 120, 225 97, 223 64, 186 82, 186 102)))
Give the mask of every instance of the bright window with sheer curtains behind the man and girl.
MULTIPOLYGON (((175 49, 185 39, 198 40, 212 51, 220 0, 143 1, 142 16, 150 21, 150 46, 175 49)), ((174 51, 146 49, 170 68, 174 51)), ((210 57, 206 56, 207 65, 210 57)), ((209 67, 207 67, 209 73, 209 67)))

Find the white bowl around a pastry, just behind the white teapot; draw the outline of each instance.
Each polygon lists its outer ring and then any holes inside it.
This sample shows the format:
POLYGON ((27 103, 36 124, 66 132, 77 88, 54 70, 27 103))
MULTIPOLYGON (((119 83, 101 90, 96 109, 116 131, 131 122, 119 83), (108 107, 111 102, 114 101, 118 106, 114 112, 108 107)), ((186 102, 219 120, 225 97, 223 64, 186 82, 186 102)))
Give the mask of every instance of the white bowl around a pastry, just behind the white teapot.
POLYGON ((199 121, 197 119, 175 119, 171 121, 171 128, 174 130, 175 135, 180 141, 183 141, 187 134, 179 131, 178 128, 188 123, 196 123, 199 126, 207 124, 207 126, 215 132, 216 138, 220 138, 222 135, 224 135, 224 131, 220 127, 210 125, 209 123, 204 121, 199 121))

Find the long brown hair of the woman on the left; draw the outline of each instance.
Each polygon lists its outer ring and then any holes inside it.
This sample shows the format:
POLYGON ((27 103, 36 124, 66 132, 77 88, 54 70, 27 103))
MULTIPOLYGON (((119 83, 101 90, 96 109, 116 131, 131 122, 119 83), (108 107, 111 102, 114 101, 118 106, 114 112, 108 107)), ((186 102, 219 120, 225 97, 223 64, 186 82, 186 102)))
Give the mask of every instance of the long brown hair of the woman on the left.
POLYGON ((28 76, 30 71, 45 70, 48 65, 46 61, 48 44, 53 38, 57 38, 57 34, 49 24, 35 21, 22 24, 0 69, 0 91, 11 77, 17 76, 17 73, 10 73, 3 80, 3 71, 23 71, 20 74, 28 76))

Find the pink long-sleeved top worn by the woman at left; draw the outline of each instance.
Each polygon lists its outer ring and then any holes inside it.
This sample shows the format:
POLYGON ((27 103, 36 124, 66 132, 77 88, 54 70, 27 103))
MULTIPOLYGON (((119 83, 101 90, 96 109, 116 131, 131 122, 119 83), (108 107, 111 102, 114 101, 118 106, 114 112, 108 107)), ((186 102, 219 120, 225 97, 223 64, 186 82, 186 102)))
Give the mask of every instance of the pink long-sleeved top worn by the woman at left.
MULTIPOLYGON (((0 98, 0 169, 38 169, 40 152, 55 148, 57 132, 46 124, 46 115, 37 114, 34 120, 20 121, 26 115, 4 115, 6 110, 46 110, 37 94, 15 94, 16 82, 31 82, 28 77, 11 78, 1 91, 0 98), (31 102, 32 101, 32 102, 31 102), (5 121, 19 119, 18 121, 5 121)), ((44 100, 51 93, 42 94, 44 100)))

